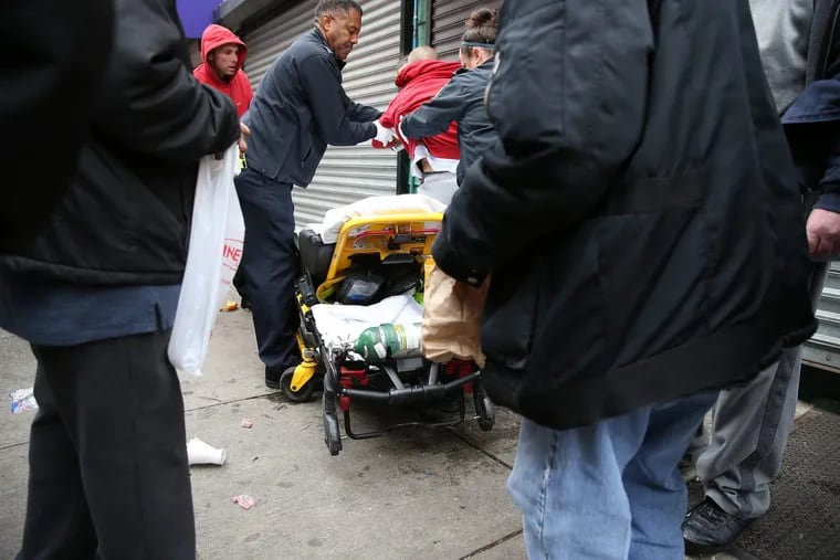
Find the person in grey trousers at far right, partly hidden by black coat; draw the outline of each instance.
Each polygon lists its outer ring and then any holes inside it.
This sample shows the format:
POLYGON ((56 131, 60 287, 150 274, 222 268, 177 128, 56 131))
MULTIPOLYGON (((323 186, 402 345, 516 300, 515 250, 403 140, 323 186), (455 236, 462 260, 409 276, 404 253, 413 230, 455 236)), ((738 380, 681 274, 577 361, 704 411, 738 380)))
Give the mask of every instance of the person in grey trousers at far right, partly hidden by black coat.
MULTIPOLYGON (((840 154, 837 80, 838 8, 818 0, 750 0, 758 46, 788 141, 800 168, 812 209, 808 244, 812 257, 840 252, 840 154), (833 56, 833 57, 832 57, 833 56), (807 87, 806 87, 807 86, 807 87), (836 148, 834 148, 836 149, 836 148)), ((812 293, 819 296, 825 266, 817 266, 812 293)), ((721 392, 714 409, 714 436, 696 461, 705 500, 694 507, 682 530, 690 553, 713 553, 734 543, 770 507, 770 483, 781 468, 794 426, 799 388, 800 348, 748 384, 721 392)))

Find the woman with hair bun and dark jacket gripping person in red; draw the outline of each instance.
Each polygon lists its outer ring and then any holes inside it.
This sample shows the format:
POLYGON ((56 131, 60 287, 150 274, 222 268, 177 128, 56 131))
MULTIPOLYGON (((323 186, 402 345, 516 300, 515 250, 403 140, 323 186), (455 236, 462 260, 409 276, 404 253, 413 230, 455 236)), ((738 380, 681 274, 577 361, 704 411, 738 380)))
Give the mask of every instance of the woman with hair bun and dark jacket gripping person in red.
POLYGON ((466 20, 461 40, 461 70, 434 96, 400 123, 403 138, 427 138, 443 133, 458 123, 458 184, 466 169, 492 147, 498 136, 484 107, 484 91, 493 74, 496 44, 496 14, 481 8, 466 20))

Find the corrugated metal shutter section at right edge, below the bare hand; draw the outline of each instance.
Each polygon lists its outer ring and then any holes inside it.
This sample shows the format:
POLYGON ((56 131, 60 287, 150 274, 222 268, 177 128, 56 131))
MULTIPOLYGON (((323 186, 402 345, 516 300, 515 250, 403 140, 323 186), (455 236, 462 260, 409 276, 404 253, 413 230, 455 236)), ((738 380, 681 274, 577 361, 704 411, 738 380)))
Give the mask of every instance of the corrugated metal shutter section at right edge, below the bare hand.
POLYGON ((819 328, 802 348, 802 360, 840 373, 840 263, 831 263, 817 305, 819 328))

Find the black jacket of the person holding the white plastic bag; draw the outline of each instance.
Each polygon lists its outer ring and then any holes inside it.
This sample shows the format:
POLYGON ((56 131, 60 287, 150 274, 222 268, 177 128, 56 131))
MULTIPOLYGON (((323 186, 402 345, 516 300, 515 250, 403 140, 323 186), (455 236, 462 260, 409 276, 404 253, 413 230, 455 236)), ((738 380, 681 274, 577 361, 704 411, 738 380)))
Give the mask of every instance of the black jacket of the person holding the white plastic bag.
POLYGON ((231 146, 239 120, 224 94, 192 77, 172 0, 115 7, 114 53, 78 171, 46 230, 0 266, 84 285, 179 284, 197 161, 231 146))

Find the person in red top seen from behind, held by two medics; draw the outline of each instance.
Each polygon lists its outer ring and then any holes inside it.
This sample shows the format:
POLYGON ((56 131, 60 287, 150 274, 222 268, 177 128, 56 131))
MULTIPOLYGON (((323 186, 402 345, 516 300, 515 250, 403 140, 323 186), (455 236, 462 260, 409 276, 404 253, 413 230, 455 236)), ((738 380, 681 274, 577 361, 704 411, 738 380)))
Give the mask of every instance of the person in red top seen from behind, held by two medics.
MULTIPOLYGON (((397 73, 395 84, 401 89, 379 120, 384 127, 393 129, 396 138, 408 151, 411 173, 422 181, 418 192, 444 204, 449 204, 458 189, 455 170, 461 158, 458 125, 453 121, 445 131, 422 139, 405 138, 397 128, 403 116, 434 97, 460 67, 459 62, 439 61, 433 47, 418 46, 409 53, 406 64, 397 73)), ((390 147, 392 144, 385 146, 374 140, 375 148, 390 147)))

